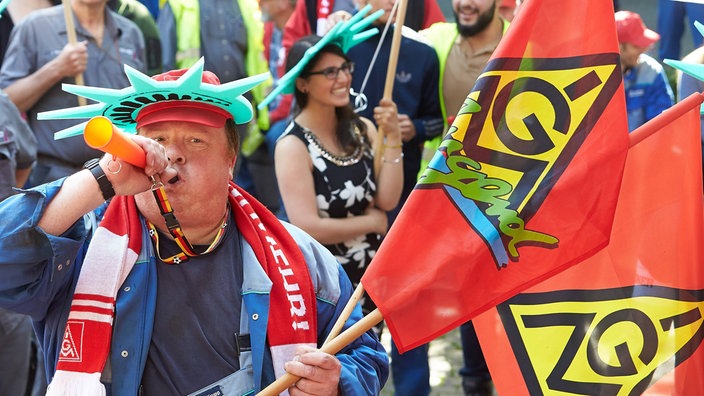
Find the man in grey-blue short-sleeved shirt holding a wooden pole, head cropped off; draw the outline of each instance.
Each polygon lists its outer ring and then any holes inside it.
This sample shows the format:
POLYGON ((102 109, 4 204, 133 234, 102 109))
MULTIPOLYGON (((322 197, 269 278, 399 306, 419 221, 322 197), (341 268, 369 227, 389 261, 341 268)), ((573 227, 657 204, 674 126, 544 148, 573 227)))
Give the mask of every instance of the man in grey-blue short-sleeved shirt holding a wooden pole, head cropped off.
POLYGON ((104 1, 73 0, 78 42, 67 43, 63 6, 37 10, 12 30, 0 69, 0 88, 26 112, 37 137, 38 155, 29 178, 34 186, 72 174, 99 155, 80 138, 54 141, 70 120, 38 121, 37 114, 56 110, 76 98, 61 89, 82 74, 87 84, 123 88, 123 65, 144 70, 144 39, 137 26, 106 8, 104 1))

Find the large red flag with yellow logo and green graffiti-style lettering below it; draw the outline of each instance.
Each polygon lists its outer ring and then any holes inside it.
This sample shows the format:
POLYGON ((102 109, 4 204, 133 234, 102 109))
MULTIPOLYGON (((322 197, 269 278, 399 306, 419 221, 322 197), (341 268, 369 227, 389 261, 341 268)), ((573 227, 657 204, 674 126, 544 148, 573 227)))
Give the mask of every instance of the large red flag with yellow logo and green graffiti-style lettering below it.
POLYGON ((628 146, 613 15, 531 0, 502 39, 362 278, 399 350, 607 245, 628 146))

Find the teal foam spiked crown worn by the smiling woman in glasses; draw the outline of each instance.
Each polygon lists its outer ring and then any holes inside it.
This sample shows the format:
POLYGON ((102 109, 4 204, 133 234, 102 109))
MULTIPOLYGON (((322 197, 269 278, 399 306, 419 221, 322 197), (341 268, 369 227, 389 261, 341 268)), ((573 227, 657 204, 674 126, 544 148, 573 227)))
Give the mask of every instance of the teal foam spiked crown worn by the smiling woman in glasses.
POLYGON ((313 57, 326 45, 335 44, 342 49, 342 52, 347 53, 350 48, 377 34, 379 32, 379 29, 377 28, 372 28, 362 32, 362 30, 371 25, 372 22, 384 15, 384 10, 377 10, 373 14, 364 18, 371 8, 372 6, 367 4, 352 18, 347 21, 340 21, 333 26, 333 28, 330 29, 330 31, 328 31, 320 39, 320 41, 306 50, 301 60, 296 63, 296 66, 292 67, 291 70, 281 76, 277 82, 276 88, 274 88, 271 93, 269 93, 269 95, 267 95, 266 98, 264 98, 264 100, 257 105, 257 108, 260 110, 263 109, 280 94, 293 93, 293 88, 296 85, 296 78, 298 78, 308 62, 310 62, 310 60, 313 59, 313 57))

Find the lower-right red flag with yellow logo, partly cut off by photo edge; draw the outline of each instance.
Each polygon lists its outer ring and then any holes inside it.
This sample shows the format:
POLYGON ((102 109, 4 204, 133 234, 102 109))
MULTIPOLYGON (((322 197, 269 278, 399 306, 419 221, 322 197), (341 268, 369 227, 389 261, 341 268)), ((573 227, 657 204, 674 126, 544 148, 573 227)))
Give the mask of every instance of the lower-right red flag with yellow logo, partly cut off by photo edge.
POLYGON ((499 394, 704 393, 702 100, 634 131, 606 249, 474 319, 499 394))

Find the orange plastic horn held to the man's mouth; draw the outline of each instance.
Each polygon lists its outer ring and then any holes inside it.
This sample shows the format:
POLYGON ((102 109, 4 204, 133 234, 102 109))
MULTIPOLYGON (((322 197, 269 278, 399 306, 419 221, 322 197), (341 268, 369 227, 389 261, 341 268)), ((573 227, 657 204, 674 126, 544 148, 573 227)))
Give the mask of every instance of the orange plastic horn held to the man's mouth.
POLYGON ((147 157, 141 147, 115 127, 107 117, 93 117, 83 130, 83 138, 88 146, 112 154, 134 166, 144 168, 147 157))

